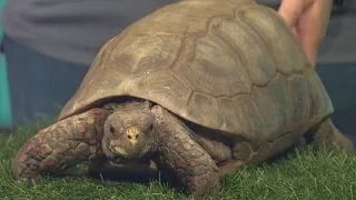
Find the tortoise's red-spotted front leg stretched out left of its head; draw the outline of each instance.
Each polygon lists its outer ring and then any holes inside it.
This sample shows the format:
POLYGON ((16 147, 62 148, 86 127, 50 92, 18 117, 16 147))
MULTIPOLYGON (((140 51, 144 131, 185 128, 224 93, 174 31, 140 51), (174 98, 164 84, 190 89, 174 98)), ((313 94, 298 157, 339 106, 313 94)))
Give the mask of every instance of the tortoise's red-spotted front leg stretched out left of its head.
POLYGON ((92 109, 39 131, 17 152, 12 164, 16 178, 30 181, 99 153, 108 114, 107 110, 92 109))

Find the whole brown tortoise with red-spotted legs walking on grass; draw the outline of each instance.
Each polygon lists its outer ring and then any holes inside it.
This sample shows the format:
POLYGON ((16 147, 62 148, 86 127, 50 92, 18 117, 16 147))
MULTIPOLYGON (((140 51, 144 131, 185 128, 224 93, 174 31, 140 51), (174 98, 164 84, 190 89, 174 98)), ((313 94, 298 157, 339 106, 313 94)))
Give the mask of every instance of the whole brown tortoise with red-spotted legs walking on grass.
POLYGON ((253 0, 185 0, 141 18, 98 52, 58 121, 13 162, 29 181, 80 161, 155 160, 188 194, 295 147, 353 153, 330 98, 278 13, 253 0))

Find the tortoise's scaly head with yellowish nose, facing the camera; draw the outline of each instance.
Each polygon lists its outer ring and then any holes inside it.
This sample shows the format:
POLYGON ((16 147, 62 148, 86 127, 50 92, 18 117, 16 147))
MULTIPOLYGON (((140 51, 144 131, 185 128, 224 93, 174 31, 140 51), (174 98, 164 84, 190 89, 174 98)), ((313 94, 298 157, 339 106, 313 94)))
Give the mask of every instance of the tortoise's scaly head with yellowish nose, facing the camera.
POLYGON ((157 150, 155 117, 149 108, 113 111, 103 127, 102 150, 113 163, 138 161, 157 150))

